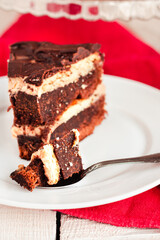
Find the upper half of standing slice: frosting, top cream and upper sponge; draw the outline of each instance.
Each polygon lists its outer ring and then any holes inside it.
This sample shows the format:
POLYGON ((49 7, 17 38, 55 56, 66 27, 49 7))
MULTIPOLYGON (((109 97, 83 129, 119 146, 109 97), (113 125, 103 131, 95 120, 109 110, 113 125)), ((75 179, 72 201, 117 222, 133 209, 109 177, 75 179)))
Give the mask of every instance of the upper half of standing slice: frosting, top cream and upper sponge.
POLYGON ((101 82, 99 44, 19 42, 10 47, 9 95, 14 125, 50 125, 101 82))

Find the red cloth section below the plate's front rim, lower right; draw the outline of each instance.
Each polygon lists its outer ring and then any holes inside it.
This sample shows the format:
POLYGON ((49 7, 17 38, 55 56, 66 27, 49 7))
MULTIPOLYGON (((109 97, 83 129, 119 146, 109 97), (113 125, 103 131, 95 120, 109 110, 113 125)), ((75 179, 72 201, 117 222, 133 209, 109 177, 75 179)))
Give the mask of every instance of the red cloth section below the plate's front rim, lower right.
POLYGON ((74 217, 119 227, 160 228, 160 188, 98 207, 60 210, 74 217))

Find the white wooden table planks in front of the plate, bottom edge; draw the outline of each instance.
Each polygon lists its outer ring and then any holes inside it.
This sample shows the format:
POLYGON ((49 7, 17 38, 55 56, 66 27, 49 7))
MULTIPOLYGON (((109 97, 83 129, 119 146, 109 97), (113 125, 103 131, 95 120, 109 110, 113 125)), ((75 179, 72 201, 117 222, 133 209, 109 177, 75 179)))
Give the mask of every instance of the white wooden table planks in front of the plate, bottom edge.
POLYGON ((22 209, 0 205, 1 240, 160 239, 159 229, 115 227, 63 214, 61 214, 60 222, 60 229, 57 229, 55 211, 22 209), (60 234, 58 234, 59 232, 60 234))

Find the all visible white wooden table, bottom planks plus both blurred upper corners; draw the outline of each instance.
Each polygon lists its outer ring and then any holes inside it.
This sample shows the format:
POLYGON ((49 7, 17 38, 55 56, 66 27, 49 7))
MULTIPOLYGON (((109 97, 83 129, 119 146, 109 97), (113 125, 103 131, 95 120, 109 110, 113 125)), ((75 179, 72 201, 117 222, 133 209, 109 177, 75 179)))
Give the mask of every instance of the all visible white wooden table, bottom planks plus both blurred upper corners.
MULTIPOLYGON (((0 10, 0 35, 18 14, 0 10)), ((160 20, 121 22, 160 52, 160 20)), ((159 240, 159 229, 121 228, 77 219, 51 210, 31 210, 0 205, 0 240, 159 240), (61 226, 57 226, 60 220, 61 226), (60 233, 60 234, 59 234, 60 233)))

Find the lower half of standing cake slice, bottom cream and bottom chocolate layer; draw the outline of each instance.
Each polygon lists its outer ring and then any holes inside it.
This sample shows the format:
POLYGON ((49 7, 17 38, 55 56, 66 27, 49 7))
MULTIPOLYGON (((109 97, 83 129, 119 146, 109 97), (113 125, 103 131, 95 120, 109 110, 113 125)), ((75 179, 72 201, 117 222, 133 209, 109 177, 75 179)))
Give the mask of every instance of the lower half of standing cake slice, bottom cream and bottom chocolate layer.
POLYGON ((72 128, 80 132, 80 140, 90 135, 104 119, 105 88, 98 85, 87 99, 75 100, 53 125, 13 126, 12 135, 17 137, 20 157, 30 159, 31 154, 43 144, 52 143, 72 128))

